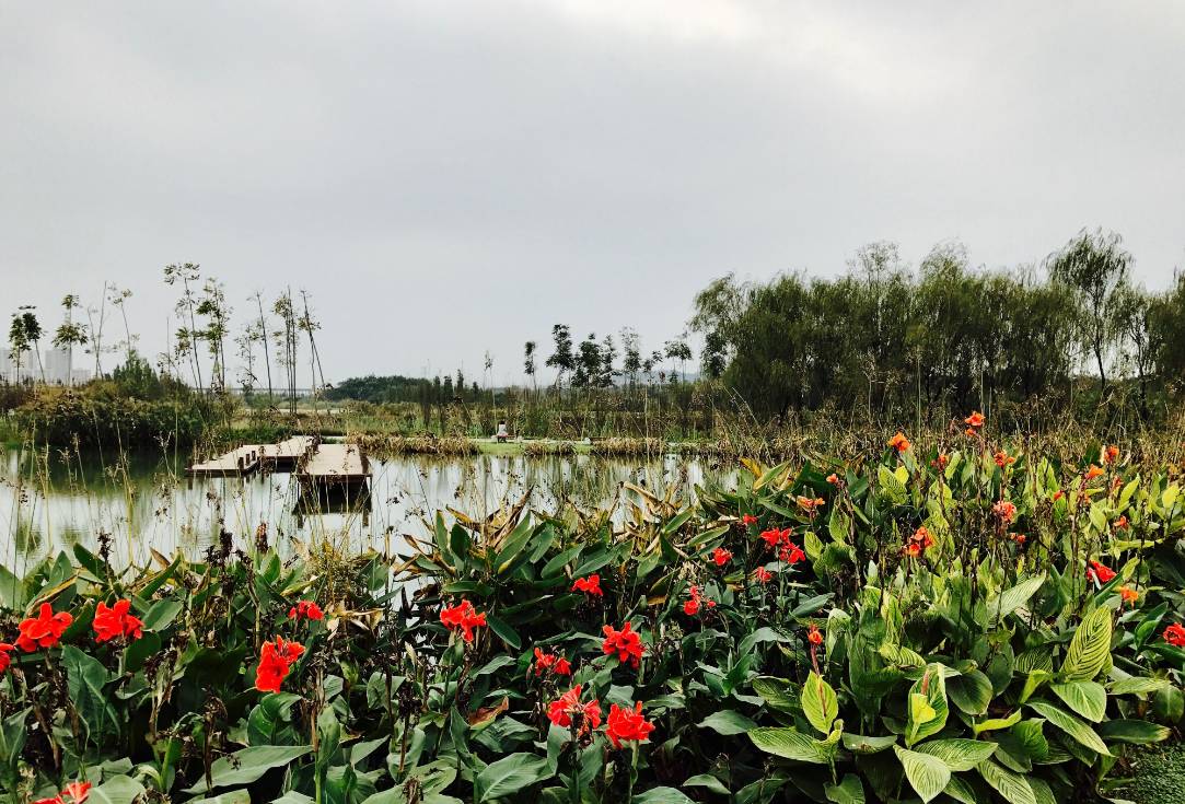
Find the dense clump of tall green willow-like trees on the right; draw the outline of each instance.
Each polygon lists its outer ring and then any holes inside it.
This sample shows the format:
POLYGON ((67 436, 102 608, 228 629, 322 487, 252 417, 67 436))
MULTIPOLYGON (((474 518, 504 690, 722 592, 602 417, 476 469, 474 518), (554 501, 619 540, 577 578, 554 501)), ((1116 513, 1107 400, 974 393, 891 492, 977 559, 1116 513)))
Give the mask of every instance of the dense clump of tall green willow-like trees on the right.
POLYGON ((1083 231, 1040 266, 976 270, 960 244, 916 271, 890 243, 838 278, 712 282, 696 297, 706 378, 762 417, 831 406, 873 416, 991 400, 1095 401, 1122 380, 1147 414, 1185 384, 1185 276, 1162 292, 1130 277, 1116 234, 1083 231))

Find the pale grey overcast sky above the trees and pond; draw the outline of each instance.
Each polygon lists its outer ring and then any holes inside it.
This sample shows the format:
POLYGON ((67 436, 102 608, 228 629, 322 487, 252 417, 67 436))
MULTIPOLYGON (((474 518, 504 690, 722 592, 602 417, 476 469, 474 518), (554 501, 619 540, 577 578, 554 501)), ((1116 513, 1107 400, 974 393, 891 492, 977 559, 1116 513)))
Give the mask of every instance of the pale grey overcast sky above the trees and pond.
POLYGON ((521 374, 861 244, 1185 266, 1185 4, 0 0, 0 300, 307 289, 326 374, 521 374), (543 346, 543 356, 550 354, 543 346))

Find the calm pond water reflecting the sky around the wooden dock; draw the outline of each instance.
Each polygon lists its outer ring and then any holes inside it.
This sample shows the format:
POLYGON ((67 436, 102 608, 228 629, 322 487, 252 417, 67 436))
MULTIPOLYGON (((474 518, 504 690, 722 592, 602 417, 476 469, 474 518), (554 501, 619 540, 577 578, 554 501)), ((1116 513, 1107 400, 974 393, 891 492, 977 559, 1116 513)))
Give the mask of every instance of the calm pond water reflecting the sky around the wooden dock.
MULTIPOLYGON (((261 522, 281 552, 293 540, 331 539, 341 548, 398 548, 405 534, 424 535, 436 510, 485 516, 530 494, 538 510, 574 503, 590 508, 628 497, 630 482, 658 493, 677 487, 731 484, 731 470, 665 456, 647 462, 590 456, 371 459, 371 493, 356 500, 301 499, 289 474, 190 478, 184 463, 156 457, 104 461, 52 452, 0 452, 0 564, 18 575, 46 555, 82 543, 110 545, 113 564, 143 565, 150 549, 200 557, 225 529, 236 546, 261 522)), ((620 508, 619 508, 620 512, 620 508)))

